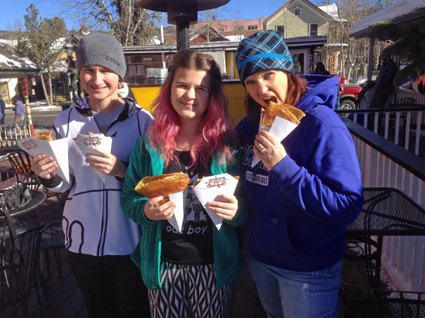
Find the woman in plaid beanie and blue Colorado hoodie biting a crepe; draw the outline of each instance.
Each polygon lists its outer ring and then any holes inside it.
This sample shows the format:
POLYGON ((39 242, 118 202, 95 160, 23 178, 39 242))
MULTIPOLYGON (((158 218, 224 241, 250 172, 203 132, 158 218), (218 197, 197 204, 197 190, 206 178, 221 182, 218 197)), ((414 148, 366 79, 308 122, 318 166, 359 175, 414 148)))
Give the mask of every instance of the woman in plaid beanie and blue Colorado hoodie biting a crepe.
POLYGON ((363 205, 353 140, 332 111, 338 78, 295 76, 283 35, 271 30, 244 38, 236 63, 249 93, 237 126, 251 206, 244 242, 261 303, 268 317, 336 317, 344 232, 363 205), (259 131, 270 101, 305 112, 283 141, 259 131), (251 167, 254 154, 261 162, 251 167))

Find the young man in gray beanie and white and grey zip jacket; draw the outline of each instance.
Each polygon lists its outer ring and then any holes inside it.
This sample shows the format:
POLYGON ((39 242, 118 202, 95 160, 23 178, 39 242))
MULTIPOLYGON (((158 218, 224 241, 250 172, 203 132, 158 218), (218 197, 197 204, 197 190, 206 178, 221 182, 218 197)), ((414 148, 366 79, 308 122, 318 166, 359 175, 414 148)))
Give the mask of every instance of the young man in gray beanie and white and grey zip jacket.
POLYGON ((68 137, 72 182, 55 174, 52 157, 35 156, 31 167, 48 189, 70 189, 63 215, 65 247, 89 317, 149 317, 147 290, 130 260, 142 228, 125 217, 120 196, 132 148, 152 116, 134 100, 118 96, 126 66, 114 37, 90 33, 81 38, 76 55, 86 95, 60 113, 53 126, 54 139, 68 137), (111 137, 111 153, 93 146, 98 155, 84 156, 73 138, 89 131, 111 137), (95 170, 108 175, 104 183, 95 170))

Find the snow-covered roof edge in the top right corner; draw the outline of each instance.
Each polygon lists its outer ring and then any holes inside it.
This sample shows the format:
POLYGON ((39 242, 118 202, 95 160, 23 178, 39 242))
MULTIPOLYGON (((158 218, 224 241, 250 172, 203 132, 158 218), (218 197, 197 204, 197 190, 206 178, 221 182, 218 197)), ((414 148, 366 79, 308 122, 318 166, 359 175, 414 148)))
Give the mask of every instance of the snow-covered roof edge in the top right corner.
POLYGON ((425 18, 424 0, 396 0, 394 4, 358 21, 351 28, 350 36, 356 38, 368 36, 369 26, 379 21, 392 20, 394 23, 403 23, 419 18, 425 18))

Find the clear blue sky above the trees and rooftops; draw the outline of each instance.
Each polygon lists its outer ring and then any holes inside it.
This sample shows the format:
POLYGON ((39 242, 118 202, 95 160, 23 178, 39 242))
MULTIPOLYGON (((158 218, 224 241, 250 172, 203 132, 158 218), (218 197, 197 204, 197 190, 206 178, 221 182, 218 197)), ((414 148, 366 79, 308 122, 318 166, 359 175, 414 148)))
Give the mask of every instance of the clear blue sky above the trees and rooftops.
MULTIPOLYGON (((69 0, 72 1, 72 0, 69 0)), ((312 0, 310 0, 312 1, 312 0)), ((63 8, 55 5, 59 1, 56 0, 0 0, 0 30, 8 30, 8 25, 11 30, 14 30, 16 21, 24 25, 23 15, 25 15, 26 8, 31 3, 40 11, 42 18, 52 18, 58 16, 63 11, 63 8)), ((313 3, 316 1, 312 1, 313 3)), ((222 19, 237 19, 237 20, 250 20, 254 18, 261 18, 263 16, 271 16, 280 6, 283 6, 284 0, 230 0, 224 6, 225 10, 222 11, 222 19)), ((72 22, 66 21, 67 27, 74 26, 72 22)), ((78 25, 76 25, 76 28, 78 25)))

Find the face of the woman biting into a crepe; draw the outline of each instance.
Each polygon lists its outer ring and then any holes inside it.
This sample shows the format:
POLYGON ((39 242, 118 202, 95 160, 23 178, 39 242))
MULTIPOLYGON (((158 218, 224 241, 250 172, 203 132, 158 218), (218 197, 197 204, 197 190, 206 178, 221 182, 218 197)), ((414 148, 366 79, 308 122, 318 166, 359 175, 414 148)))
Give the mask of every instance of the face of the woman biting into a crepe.
POLYGON ((288 93, 288 76, 284 71, 267 70, 254 73, 244 81, 246 90, 261 107, 268 102, 285 103, 288 93))

